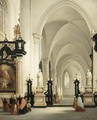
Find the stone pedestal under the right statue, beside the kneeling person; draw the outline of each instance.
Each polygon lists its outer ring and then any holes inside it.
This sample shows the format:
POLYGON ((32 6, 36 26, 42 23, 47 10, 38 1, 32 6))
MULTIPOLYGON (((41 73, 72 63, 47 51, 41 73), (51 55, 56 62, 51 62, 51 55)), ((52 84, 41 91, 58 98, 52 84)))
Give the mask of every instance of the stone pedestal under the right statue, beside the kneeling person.
POLYGON ((84 99, 84 106, 85 107, 95 107, 94 95, 92 93, 91 87, 85 88, 85 94, 83 96, 83 99, 84 99))

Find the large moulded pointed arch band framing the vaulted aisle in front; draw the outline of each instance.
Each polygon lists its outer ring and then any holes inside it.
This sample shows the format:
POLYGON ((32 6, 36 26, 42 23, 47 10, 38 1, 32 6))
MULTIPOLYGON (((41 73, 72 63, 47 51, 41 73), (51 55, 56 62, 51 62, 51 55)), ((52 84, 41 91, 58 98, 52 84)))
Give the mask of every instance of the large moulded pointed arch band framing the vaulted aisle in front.
POLYGON ((38 26, 36 28, 36 33, 41 35, 42 31, 43 31, 43 27, 46 23, 46 21, 48 20, 48 18, 53 14, 54 11, 56 11, 58 8, 63 7, 63 6, 69 6, 73 9, 75 9, 86 21, 87 26, 89 28, 89 31, 94 31, 94 27, 93 24, 91 22, 91 18, 87 15, 87 13, 80 7, 78 6, 76 3, 74 3, 73 1, 69 1, 69 0, 61 0, 58 1, 56 3, 54 3, 53 5, 51 5, 46 11, 45 13, 41 16, 38 26))

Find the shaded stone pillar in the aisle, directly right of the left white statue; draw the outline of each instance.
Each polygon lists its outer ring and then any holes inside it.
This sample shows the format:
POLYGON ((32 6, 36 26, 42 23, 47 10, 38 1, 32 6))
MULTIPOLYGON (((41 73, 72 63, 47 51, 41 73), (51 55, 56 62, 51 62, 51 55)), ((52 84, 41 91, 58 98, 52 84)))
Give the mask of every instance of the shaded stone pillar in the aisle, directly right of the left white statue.
POLYGON ((43 86, 47 86, 47 81, 49 79, 49 59, 43 58, 43 86))

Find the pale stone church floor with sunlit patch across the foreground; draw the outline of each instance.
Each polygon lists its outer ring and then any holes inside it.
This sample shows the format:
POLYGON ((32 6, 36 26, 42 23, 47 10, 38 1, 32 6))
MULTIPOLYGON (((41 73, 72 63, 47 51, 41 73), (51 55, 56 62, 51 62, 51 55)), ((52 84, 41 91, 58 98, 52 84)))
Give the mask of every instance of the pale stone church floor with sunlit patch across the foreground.
POLYGON ((32 108, 25 115, 10 115, 0 109, 0 120, 97 120, 97 107, 75 112, 72 107, 32 108))

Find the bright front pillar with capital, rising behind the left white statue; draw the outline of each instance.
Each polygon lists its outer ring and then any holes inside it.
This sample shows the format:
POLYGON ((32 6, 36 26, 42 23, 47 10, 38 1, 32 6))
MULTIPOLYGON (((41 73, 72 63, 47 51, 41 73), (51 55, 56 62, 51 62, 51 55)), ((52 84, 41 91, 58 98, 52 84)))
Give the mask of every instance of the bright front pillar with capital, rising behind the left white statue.
MULTIPOLYGON (((33 41, 34 41, 34 81, 37 81, 37 73, 39 70, 39 62, 41 59, 41 50, 40 50, 40 43, 41 43, 41 36, 38 34, 33 34, 33 41)), ((34 83, 37 86, 37 83, 34 83)))

